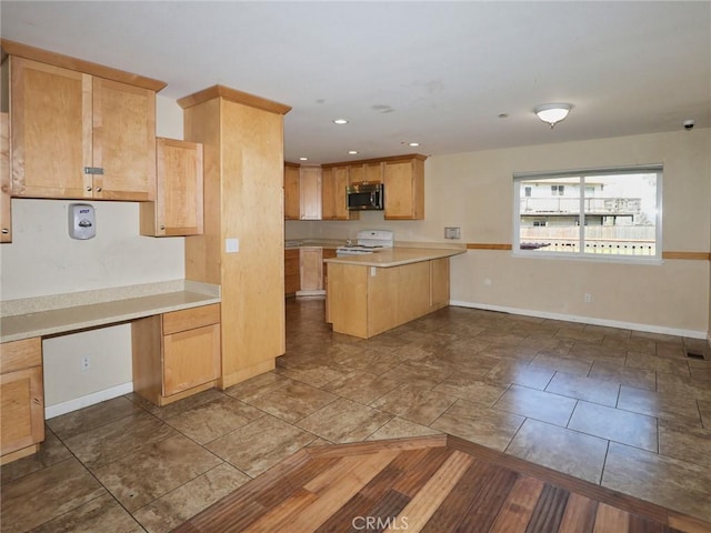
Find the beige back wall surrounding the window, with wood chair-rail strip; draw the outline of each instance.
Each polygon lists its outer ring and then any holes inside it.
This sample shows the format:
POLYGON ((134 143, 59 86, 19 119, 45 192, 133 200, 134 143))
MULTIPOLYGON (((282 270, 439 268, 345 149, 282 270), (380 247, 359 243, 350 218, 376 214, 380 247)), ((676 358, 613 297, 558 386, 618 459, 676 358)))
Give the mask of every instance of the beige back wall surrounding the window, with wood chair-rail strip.
MULTIPOLYGON (((711 242, 711 130, 468 152, 425 162, 425 220, 289 222, 287 237, 344 239, 364 228, 391 229, 399 241, 508 243, 513 231, 514 172, 663 163, 663 249, 708 252, 711 242)), ((469 251, 452 259, 455 303, 705 336, 710 329, 708 261, 622 264, 523 259, 509 251, 469 251), (592 296, 583 302, 583 294, 592 296)))

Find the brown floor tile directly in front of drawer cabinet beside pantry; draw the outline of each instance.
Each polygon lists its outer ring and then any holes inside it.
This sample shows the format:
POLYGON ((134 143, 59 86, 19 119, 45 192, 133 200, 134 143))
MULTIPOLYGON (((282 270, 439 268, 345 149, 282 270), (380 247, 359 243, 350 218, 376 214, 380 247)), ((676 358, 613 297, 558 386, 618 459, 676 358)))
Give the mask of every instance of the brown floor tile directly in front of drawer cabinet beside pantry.
POLYGON ((198 444, 204 444, 263 415, 257 408, 222 396, 172 416, 166 423, 198 444))

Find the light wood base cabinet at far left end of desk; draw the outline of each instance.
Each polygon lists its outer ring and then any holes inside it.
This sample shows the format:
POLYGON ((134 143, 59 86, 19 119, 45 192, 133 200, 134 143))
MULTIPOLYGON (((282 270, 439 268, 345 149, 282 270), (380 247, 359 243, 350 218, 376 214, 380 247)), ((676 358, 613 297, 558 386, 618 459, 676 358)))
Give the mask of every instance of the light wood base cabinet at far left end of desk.
POLYGON ((0 360, 0 453, 6 464, 39 450, 44 440, 42 341, 6 342, 0 360))

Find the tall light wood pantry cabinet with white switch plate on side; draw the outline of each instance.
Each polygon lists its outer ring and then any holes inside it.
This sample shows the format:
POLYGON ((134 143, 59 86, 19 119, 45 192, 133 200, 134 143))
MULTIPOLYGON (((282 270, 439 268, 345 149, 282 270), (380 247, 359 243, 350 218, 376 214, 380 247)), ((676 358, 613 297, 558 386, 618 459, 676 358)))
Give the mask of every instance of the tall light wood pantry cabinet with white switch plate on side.
POLYGON ((204 231, 186 238, 186 278, 221 286, 226 389, 286 351, 283 115, 291 108, 214 86, 178 100, 204 145, 204 231))

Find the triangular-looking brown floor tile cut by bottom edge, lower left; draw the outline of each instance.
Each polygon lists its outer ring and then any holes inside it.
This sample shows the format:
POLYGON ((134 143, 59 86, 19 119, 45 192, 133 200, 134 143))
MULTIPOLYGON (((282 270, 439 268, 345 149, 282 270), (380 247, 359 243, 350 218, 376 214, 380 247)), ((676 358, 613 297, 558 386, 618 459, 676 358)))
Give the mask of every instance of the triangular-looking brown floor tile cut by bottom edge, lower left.
POLYGON ((32 533, 97 533, 104 531, 142 533, 144 530, 112 496, 106 494, 34 527, 32 533))

